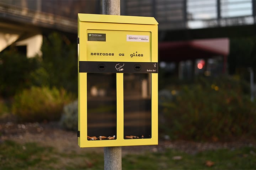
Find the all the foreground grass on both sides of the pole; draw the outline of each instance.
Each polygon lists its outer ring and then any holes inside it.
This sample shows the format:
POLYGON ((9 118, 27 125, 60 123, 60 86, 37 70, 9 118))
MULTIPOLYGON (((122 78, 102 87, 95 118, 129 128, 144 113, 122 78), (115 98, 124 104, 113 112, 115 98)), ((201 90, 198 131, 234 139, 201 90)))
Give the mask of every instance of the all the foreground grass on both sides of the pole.
MULTIPOLYGON (((0 143, 0 169, 103 169, 103 153, 59 152, 37 143, 0 143)), ((164 152, 127 154, 122 169, 256 169, 256 148, 219 149, 187 154, 172 149, 164 152), (174 160, 175 156, 180 156, 174 160), (211 161, 213 166, 206 166, 211 161)))

